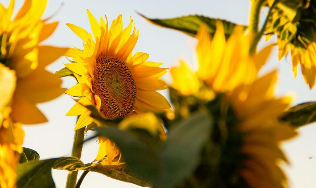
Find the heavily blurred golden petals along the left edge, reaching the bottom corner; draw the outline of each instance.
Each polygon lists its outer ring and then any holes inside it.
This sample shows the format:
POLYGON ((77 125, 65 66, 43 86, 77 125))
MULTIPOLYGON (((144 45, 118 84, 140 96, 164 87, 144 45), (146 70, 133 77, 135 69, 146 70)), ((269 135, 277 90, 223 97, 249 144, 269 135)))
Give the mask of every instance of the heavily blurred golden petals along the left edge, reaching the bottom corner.
POLYGON ((12 123, 9 118, 10 102, 16 84, 15 72, 0 64, 0 187, 15 187, 15 151, 22 152, 24 133, 21 124, 12 123))

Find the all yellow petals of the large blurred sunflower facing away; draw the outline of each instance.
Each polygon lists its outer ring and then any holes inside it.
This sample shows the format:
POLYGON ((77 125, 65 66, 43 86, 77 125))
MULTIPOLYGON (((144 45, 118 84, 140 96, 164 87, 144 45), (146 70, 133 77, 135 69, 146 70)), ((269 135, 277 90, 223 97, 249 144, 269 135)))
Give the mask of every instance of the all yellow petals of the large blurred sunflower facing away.
MULTIPOLYGON (((233 121, 233 126, 227 125, 227 129, 233 129, 232 132, 242 137, 240 148, 237 148, 238 154, 232 156, 229 153, 227 156, 234 157, 234 160, 239 160, 239 155, 241 156, 241 161, 236 162, 238 172, 233 172, 234 175, 245 180, 252 188, 286 187, 287 179, 278 162, 288 161, 279 145, 282 141, 295 136, 296 132, 279 122, 278 118, 288 108, 291 98, 274 97, 276 71, 257 78, 260 67, 270 55, 272 45, 249 55, 252 42, 250 34, 246 34, 237 26, 226 40, 223 26, 218 22, 216 33, 211 38, 208 28, 202 26, 197 34, 197 73, 194 74, 187 65, 181 63, 181 76, 180 71, 174 73, 173 68, 171 69, 173 78, 176 78, 172 86, 180 93, 190 95, 198 92, 200 79, 215 93, 225 93, 221 102, 231 104, 234 113, 227 115, 237 118, 233 121), (183 78, 182 82, 179 82, 180 77, 183 78)), ((180 68, 176 67, 176 70, 180 68)), ((229 139, 233 140, 234 144, 237 142, 237 138, 229 139)), ((234 147, 236 150, 234 144, 226 143, 225 147, 234 147)), ((224 160, 219 168, 221 165, 223 169, 229 166, 224 160)), ((225 184, 230 184, 231 177, 227 178, 225 184)), ((232 184, 234 183, 236 181, 232 184)))

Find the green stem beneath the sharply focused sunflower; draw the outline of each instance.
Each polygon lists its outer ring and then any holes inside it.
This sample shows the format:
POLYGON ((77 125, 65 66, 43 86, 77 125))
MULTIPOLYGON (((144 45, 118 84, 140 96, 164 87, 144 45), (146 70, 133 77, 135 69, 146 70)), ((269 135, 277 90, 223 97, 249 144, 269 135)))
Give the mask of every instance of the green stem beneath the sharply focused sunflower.
MULTIPOLYGON (((78 120, 79 116, 77 117, 78 120)), ((85 127, 75 131, 74 143, 72 146, 71 156, 80 159, 84 138, 85 127)), ((67 176, 66 188, 75 188, 78 171, 69 172, 67 176)))

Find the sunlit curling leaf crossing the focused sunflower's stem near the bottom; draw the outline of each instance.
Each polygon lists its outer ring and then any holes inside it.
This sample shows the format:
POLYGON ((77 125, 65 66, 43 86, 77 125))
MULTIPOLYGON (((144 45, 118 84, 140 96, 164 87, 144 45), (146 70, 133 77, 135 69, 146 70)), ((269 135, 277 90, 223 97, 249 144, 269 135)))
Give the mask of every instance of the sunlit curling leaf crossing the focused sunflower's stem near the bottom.
POLYGON ((148 186, 146 182, 133 176, 133 174, 127 170, 124 162, 112 162, 111 165, 108 165, 106 158, 99 161, 98 163, 84 164, 76 157, 63 157, 56 160, 53 168, 68 171, 84 170, 97 172, 120 181, 125 181, 140 186, 148 186))

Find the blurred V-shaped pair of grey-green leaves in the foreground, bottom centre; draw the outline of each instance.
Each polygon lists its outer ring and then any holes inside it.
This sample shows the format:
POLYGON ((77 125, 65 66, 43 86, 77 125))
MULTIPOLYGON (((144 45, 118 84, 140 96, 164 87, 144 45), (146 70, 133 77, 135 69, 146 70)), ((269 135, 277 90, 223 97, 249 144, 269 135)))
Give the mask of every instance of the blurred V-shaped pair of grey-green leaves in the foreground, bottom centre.
POLYGON ((185 119, 170 130, 157 151, 131 133, 111 127, 98 128, 98 134, 113 140, 131 172, 157 188, 171 188, 197 166, 203 144, 210 136, 211 119, 205 114, 185 119))

